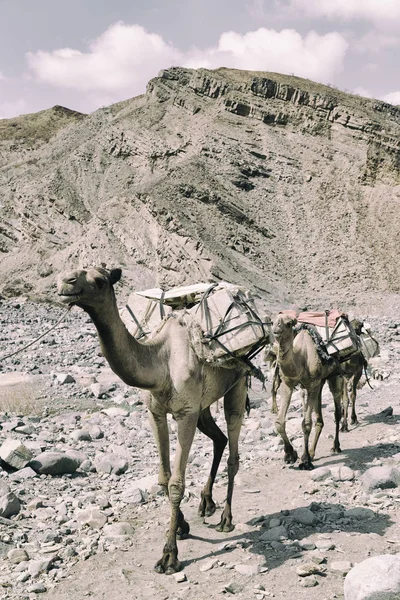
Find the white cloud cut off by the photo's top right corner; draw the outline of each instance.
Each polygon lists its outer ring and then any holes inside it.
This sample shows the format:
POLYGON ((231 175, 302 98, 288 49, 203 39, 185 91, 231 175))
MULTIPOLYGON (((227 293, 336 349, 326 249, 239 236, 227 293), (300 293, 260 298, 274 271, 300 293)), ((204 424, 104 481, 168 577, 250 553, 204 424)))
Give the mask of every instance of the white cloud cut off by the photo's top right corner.
POLYGON ((399 0, 291 0, 290 8, 312 17, 360 19, 375 24, 400 21, 399 0))

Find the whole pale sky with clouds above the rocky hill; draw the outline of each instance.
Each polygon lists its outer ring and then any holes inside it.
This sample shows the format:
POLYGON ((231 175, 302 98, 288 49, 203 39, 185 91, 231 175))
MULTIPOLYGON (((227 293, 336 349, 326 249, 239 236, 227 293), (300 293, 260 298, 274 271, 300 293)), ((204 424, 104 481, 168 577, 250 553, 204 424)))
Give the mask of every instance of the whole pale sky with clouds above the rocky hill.
POLYGON ((400 104, 400 0, 0 0, 0 119, 89 113, 161 69, 287 73, 400 104))

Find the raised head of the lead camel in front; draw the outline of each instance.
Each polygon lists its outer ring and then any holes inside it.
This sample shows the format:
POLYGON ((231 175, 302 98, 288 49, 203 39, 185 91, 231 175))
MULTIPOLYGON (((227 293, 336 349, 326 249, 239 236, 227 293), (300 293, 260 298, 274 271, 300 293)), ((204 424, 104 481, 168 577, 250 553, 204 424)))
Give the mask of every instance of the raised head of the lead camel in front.
POLYGON ((57 293, 63 304, 83 309, 97 308, 114 298, 113 285, 121 278, 121 269, 93 267, 61 273, 57 293))

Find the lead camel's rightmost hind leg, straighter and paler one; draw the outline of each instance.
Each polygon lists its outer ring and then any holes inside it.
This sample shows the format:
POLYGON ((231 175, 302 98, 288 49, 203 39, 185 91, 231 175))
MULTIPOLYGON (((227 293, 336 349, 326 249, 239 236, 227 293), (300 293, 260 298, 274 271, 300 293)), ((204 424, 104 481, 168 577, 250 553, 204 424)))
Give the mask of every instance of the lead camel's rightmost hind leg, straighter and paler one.
POLYGON ((239 435, 247 398, 247 386, 244 378, 229 390, 224 397, 224 412, 228 429, 228 491, 226 503, 217 525, 217 531, 228 532, 234 529, 232 524, 232 496, 235 475, 239 470, 239 435))

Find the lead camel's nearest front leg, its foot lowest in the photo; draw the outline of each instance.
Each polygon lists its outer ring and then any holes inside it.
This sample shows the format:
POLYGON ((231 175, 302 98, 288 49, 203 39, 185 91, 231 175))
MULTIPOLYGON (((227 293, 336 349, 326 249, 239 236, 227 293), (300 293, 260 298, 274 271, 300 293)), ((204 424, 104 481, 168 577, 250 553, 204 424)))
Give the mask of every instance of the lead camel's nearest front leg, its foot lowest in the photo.
POLYGON ((181 569, 181 564, 178 560, 178 545, 176 543, 177 533, 179 531, 181 534, 188 534, 189 525, 185 521, 180 510, 180 504, 185 492, 186 465, 198 418, 198 413, 191 413, 177 421, 178 440, 176 445, 176 456, 172 475, 168 483, 171 519, 167 542, 163 548, 163 555, 154 567, 157 573, 171 575, 172 573, 177 573, 181 569))

